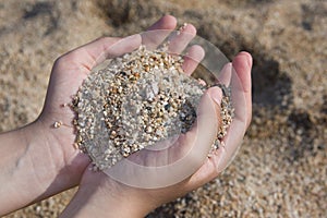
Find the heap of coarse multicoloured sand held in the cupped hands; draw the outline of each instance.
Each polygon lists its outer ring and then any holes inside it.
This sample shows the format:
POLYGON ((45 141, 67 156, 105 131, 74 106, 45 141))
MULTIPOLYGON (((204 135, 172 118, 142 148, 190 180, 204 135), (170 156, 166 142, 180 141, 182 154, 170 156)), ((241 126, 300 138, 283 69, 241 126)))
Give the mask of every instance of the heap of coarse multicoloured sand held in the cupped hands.
MULTIPOLYGON (((187 132, 207 86, 186 75, 183 57, 169 55, 166 46, 157 50, 141 46, 106 62, 88 75, 72 102, 76 144, 95 170, 187 132)), ((233 118, 230 89, 223 90, 221 124, 211 150, 219 148, 233 118)))

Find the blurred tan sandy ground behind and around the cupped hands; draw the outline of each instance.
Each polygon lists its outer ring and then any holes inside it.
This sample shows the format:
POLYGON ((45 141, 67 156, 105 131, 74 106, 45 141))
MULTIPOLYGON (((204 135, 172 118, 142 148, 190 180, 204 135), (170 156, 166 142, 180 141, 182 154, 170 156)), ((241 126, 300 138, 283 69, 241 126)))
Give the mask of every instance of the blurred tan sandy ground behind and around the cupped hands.
MULTIPOLYGON (((193 23, 229 58, 254 57, 253 122, 217 180, 149 217, 325 217, 327 1, 1 0, 0 132, 39 114, 53 61, 162 14, 193 23)), ((57 217, 75 190, 7 217, 57 217)))

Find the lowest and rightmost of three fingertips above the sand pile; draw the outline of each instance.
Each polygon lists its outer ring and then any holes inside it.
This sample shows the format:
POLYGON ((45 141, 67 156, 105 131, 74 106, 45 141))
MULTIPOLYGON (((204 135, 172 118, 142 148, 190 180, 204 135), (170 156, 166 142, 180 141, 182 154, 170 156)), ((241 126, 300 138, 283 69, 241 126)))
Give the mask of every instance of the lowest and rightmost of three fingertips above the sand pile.
POLYGON ((205 51, 201 46, 195 45, 190 47, 184 56, 184 63, 182 65, 183 71, 187 75, 191 75, 204 57, 205 51))

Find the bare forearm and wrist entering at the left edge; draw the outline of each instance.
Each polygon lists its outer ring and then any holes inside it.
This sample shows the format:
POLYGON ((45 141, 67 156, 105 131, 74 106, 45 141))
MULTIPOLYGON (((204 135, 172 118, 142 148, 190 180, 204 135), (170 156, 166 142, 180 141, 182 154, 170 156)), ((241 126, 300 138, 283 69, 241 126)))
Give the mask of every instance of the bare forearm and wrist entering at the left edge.
POLYGON ((56 177, 56 166, 38 131, 34 122, 0 135, 0 214, 33 203, 56 177))

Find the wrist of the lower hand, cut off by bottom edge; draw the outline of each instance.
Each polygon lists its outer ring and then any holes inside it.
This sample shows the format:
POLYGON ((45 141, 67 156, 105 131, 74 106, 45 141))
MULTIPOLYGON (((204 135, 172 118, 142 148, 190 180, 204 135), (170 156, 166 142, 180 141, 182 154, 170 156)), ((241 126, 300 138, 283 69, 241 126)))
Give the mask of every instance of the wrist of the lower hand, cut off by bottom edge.
POLYGON ((140 193, 102 172, 87 171, 62 217, 145 217, 153 207, 140 193))

